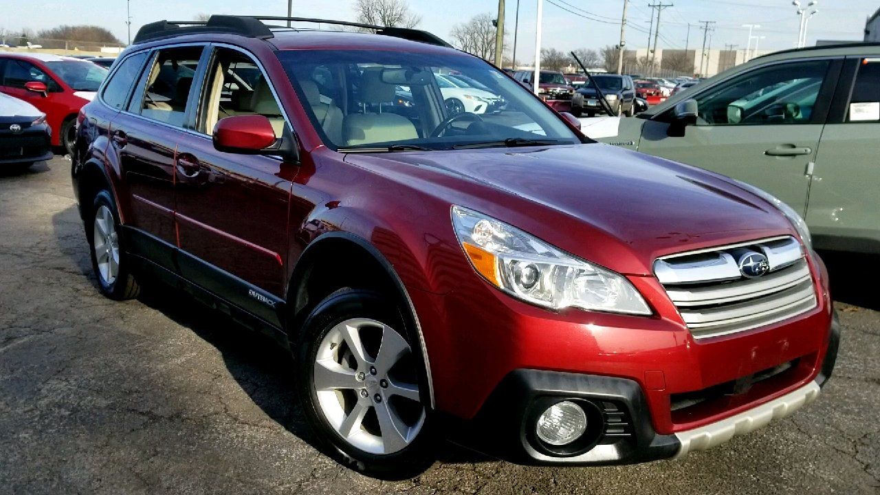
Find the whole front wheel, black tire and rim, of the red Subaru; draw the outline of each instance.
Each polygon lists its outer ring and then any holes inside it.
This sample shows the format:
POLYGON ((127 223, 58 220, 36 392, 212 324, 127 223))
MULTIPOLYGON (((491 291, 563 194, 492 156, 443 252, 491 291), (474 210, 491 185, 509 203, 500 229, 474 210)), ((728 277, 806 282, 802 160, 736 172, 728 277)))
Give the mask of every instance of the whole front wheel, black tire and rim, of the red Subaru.
POLYGON ((334 292, 305 319, 296 348, 303 410, 329 454, 383 479, 429 468, 422 359, 394 305, 374 292, 334 292))

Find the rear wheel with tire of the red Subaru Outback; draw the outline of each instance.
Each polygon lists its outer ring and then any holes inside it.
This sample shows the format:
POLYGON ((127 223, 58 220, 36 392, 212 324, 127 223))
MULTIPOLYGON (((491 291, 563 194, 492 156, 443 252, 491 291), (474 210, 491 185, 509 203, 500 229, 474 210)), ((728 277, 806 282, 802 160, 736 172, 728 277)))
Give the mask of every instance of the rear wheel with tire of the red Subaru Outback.
POLYGON ((92 270, 98 277, 100 292, 114 300, 136 298, 140 286, 131 274, 128 257, 121 248, 119 211, 108 191, 103 190, 95 195, 90 218, 86 235, 92 251, 92 270))

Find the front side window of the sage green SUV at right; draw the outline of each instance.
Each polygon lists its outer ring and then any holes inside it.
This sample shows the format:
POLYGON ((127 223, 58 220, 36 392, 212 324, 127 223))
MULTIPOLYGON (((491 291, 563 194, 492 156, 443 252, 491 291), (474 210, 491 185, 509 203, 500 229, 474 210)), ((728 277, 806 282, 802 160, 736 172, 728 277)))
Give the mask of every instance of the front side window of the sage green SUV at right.
POLYGON ((828 63, 783 63, 741 74, 696 97, 699 123, 810 123, 828 63))

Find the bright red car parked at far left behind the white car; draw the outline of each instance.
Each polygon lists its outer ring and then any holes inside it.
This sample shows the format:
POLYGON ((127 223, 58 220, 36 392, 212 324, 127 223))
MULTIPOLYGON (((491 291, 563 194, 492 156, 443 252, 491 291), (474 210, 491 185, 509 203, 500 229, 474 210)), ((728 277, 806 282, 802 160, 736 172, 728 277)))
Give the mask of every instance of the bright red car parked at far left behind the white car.
POLYGON ((46 114, 52 145, 73 153, 77 113, 95 97, 107 70, 77 58, 0 52, 0 92, 46 114))

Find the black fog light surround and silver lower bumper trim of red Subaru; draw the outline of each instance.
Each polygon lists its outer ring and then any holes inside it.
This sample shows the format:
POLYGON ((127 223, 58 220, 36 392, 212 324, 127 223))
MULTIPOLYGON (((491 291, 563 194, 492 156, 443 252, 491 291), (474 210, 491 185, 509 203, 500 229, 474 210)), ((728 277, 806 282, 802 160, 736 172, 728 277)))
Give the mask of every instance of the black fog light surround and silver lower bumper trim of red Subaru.
POLYGON ((831 375, 839 341, 840 325, 835 317, 822 372, 815 380, 751 409, 689 430, 656 432, 642 387, 634 380, 520 369, 502 380, 473 419, 445 417, 451 426, 448 435, 466 447, 527 465, 632 464, 679 458, 758 430, 814 401, 831 375), (586 440, 568 451, 554 450, 558 447, 544 444, 534 434, 541 411, 562 400, 595 411, 588 414, 586 440))

